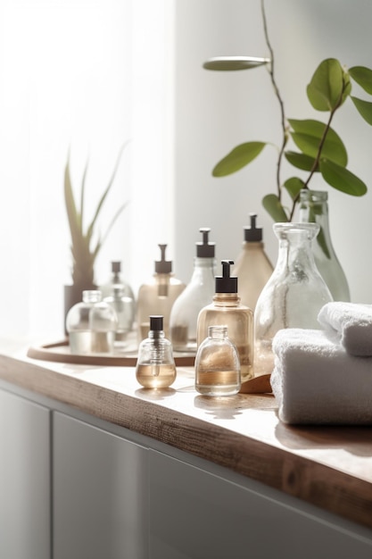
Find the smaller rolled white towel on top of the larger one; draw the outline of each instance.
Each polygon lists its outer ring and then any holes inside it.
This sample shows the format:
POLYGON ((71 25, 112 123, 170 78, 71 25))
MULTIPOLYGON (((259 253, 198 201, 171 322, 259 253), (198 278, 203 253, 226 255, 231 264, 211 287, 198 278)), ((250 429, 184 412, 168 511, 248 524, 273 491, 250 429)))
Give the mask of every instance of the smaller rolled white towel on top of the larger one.
POLYGON ((327 303, 318 322, 328 338, 341 342, 351 355, 372 355, 372 305, 327 303))

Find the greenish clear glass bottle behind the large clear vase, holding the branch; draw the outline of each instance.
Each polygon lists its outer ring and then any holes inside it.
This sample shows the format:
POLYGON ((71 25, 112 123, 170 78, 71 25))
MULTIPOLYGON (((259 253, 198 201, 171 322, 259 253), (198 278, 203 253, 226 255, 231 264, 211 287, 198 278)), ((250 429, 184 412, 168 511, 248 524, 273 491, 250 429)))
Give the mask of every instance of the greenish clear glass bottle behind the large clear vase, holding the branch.
POLYGON ((299 221, 318 223, 320 230, 312 252, 318 271, 326 281, 334 301, 350 301, 350 290, 343 268, 335 254, 329 232, 328 193, 304 188, 300 192, 299 221))

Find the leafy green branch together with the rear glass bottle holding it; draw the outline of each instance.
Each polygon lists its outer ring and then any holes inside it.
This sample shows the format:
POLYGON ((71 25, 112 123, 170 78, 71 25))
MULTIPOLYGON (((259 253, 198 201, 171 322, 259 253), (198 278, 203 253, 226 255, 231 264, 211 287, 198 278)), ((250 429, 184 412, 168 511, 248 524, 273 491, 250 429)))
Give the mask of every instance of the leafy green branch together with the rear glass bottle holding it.
MULTIPOLYGON (((243 169, 258 157, 266 146, 277 149, 275 170, 275 192, 262 198, 262 205, 274 221, 293 221, 295 209, 303 191, 309 196, 308 205, 302 205, 305 221, 316 221, 320 226, 314 256, 319 271, 327 278, 328 287, 337 299, 350 300, 350 292, 343 269, 332 246, 327 217, 327 202, 318 204, 318 194, 310 191, 310 181, 320 174, 327 184, 351 196, 363 196, 367 192, 365 183, 348 168, 348 154, 343 140, 332 125, 335 114, 347 100, 351 100, 360 116, 372 125, 372 103, 351 95, 352 81, 356 82, 369 96, 372 95, 372 70, 365 66, 349 69, 335 58, 328 58, 318 65, 306 92, 313 109, 327 113, 326 121, 314 119, 287 119, 285 104, 277 85, 274 50, 269 40, 268 23, 264 0, 260 0, 263 29, 269 58, 218 57, 206 61, 207 70, 241 71, 267 66, 269 77, 280 109, 282 140, 280 146, 269 141, 249 141, 232 149, 212 171, 214 177, 225 177, 243 169), (293 146, 290 146, 292 141, 293 146), (289 147, 288 147, 289 146, 289 147), (292 176, 282 178, 282 163, 286 160, 295 169, 292 176), (314 194, 314 197, 312 197, 314 194), (285 199, 286 198, 286 199, 285 199)), ((327 196, 327 193, 324 193, 327 196)))

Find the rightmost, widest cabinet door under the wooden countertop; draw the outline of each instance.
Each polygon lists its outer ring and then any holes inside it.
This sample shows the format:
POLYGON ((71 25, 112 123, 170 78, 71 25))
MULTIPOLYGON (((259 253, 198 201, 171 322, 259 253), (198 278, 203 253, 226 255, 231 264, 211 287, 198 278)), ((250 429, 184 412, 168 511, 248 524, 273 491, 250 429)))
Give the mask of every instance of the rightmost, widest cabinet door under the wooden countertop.
POLYGON ((150 559, 372 557, 368 530, 345 530, 341 519, 262 484, 240 486, 155 451, 149 471, 150 559))

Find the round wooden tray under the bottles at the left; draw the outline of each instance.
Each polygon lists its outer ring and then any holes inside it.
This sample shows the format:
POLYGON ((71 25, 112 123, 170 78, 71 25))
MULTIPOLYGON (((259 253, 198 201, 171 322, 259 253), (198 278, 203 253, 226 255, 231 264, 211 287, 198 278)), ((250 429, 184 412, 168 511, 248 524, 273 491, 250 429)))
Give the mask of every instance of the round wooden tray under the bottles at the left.
MULTIPOLYGON (((178 367, 193 367, 194 354, 179 354, 174 352, 174 360, 178 367)), ((75 363, 78 365, 99 365, 103 367, 135 367, 137 359, 136 348, 128 348, 128 351, 118 351, 113 355, 73 355, 70 353, 69 341, 67 339, 45 346, 31 346, 27 356, 42 361, 54 361, 58 363, 75 363)))

